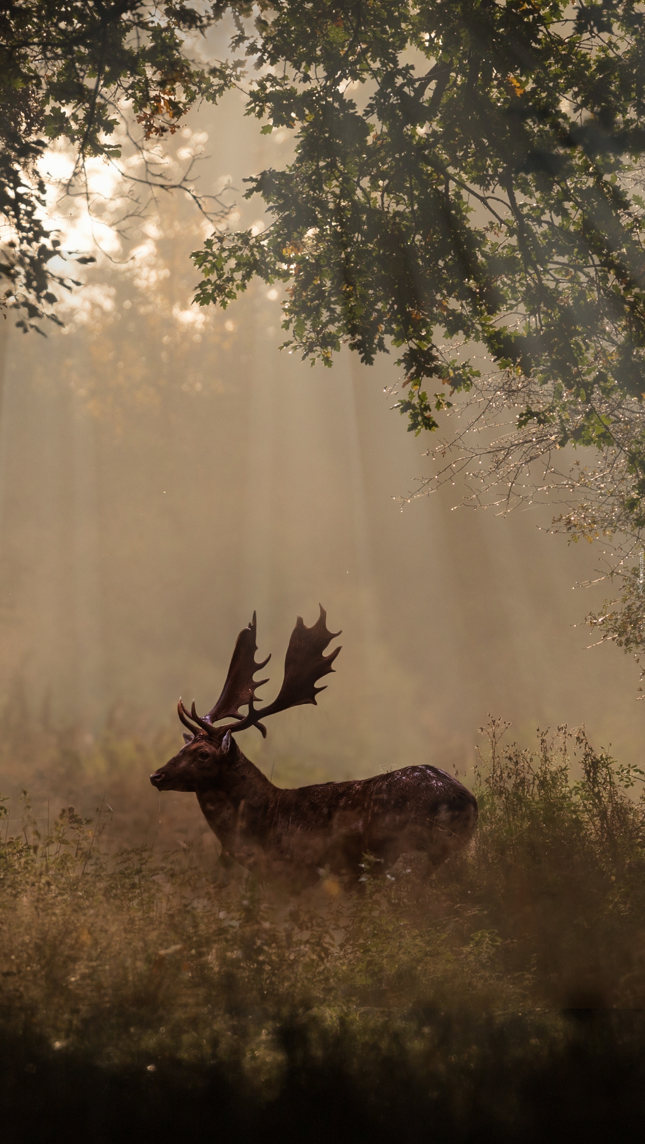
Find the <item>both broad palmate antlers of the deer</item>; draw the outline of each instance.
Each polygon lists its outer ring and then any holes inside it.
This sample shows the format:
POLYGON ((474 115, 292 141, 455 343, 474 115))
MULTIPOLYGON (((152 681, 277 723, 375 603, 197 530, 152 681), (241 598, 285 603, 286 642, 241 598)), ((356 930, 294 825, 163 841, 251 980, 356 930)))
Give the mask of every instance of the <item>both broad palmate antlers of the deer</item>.
POLYGON ((258 710, 254 706, 256 688, 262 686, 263 683, 268 683, 269 681, 261 680, 256 683, 253 676, 260 668, 265 667, 271 658, 268 656, 261 664, 255 662, 257 645, 255 643, 256 621, 254 612, 248 628, 240 631, 238 636, 224 689, 206 718, 200 718, 197 714, 194 702, 189 715, 180 699, 177 712, 184 726, 188 726, 194 734, 194 726, 189 722, 191 720, 192 723, 196 723, 207 734, 213 734, 216 730, 217 736, 222 731, 245 731, 249 726, 256 726, 265 738, 266 728, 260 722, 261 718, 266 718, 266 716, 274 715, 277 712, 287 710, 288 707, 300 707, 302 704, 316 704, 316 696, 320 691, 325 691, 324 686, 317 688, 316 684, 324 675, 328 675, 329 672, 334 670, 332 665, 341 650, 340 648, 335 648, 328 656, 322 654, 329 641, 335 639, 341 633, 327 630, 327 613, 322 604, 319 607, 320 615, 311 628, 305 627, 302 617, 297 617, 285 658, 282 686, 272 704, 261 707, 258 710), (245 716, 241 716, 239 708, 244 706, 248 707, 248 712, 245 716), (228 723, 225 726, 215 729, 213 724, 221 718, 236 718, 238 722, 228 723))

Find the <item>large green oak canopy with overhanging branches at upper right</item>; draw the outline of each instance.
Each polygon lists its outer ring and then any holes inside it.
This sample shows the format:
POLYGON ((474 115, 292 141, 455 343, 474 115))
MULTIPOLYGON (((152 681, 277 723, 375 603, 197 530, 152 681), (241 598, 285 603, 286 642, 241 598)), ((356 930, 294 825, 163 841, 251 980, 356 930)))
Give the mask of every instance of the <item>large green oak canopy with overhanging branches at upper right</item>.
POLYGON ((247 112, 292 128, 295 158, 250 180, 264 233, 214 236, 196 256, 199 301, 226 304, 260 275, 287 285, 305 356, 329 362, 347 341, 371 363, 400 345, 415 431, 445 404, 427 382, 472 383, 447 335, 548 387, 520 422, 608 442, 595 394, 645 392, 628 177, 645 149, 645 14, 614 0, 573 18, 552 0, 260 7, 234 40, 260 72, 247 112), (571 397, 586 407, 574 428, 571 397))

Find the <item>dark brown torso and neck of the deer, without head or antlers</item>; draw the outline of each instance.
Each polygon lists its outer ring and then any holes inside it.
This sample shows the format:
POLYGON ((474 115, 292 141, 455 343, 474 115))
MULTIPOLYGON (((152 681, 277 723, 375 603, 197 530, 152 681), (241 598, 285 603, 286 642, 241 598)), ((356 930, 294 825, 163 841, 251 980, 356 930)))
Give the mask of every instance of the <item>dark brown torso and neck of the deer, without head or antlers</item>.
POLYGON ((477 821, 470 792, 433 766, 281 791, 239 752, 231 772, 197 799, 223 852, 263 881, 308 885, 324 868, 358 877, 365 853, 383 869, 412 851, 436 866, 477 821))

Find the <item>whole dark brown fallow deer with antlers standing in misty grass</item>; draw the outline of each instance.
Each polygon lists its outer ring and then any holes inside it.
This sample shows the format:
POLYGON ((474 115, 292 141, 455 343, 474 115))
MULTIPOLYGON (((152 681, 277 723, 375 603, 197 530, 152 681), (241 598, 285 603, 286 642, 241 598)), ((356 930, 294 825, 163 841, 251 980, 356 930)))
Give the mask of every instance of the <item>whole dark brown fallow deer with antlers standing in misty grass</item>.
POLYGON ((255 662, 256 620, 240 631, 222 694, 201 718, 182 700, 178 716, 188 728, 185 745, 150 776, 158 791, 192 791, 224 856, 236 859, 263 881, 304 887, 324 869, 360 876, 369 853, 387 869, 404 853, 423 851, 437 866, 469 841, 477 823, 470 791, 436 766, 404 766, 371 779, 321 782, 280 789, 245 755, 233 736, 261 720, 301 704, 316 704, 325 688, 318 680, 333 672, 340 648, 322 652, 340 631, 327 630, 326 613, 308 628, 298 615, 285 660, 278 697, 256 709, 255 681, 271 657, 255 662), (246 707, 246 715, 240 714, 246 707), (216 726, 221 720, 234 720, 216 726))

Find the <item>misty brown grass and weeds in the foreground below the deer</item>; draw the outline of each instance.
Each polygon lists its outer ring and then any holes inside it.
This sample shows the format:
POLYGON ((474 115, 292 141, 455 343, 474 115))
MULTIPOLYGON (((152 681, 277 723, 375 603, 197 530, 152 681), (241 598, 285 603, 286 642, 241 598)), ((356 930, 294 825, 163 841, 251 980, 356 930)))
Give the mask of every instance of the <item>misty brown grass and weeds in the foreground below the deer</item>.
MULTIPOLYGON (((504 731, 488 726, 470 850, 425 883, 366 856, 350 896, 322 876, 277 897, 199 835, 133 844, 136 813, 119 829, 109 800, 48 824, 26 795, 2 802, 3 1138, 34 1118, 39 1141, 116 1141, 124 1118, 159 1141, 636 1130, 644 776, 583 732, 528 750, 504 731)), ((117 774, 141 762, 109 741, 117 774)))

